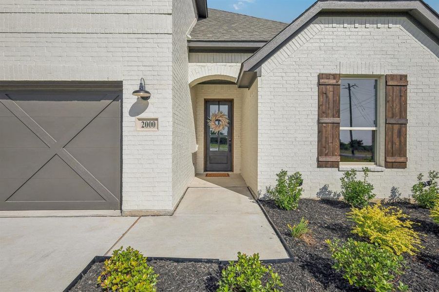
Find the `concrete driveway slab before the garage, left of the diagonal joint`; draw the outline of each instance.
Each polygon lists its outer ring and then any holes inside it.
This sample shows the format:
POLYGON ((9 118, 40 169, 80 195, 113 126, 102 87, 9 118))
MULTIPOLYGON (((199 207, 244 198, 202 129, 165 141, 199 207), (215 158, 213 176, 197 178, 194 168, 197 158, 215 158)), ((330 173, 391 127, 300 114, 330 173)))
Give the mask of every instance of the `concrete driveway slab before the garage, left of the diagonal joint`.
POLYGON ((63 291, 136 219, 0 218, 0 291, 63 291))

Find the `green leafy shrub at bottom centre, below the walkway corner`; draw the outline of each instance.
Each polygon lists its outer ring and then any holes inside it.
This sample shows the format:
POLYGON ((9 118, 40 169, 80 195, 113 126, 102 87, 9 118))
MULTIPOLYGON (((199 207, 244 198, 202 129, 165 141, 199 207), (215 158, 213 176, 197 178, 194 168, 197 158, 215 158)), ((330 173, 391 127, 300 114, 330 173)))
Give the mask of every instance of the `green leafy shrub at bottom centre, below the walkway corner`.
POLYGON ((221 272, 217 292, 278 292, 282 286, 279 275, 271 266, 262 264, 259 254, 247 256, 238 252, 238 261, 229 262, 221 272))

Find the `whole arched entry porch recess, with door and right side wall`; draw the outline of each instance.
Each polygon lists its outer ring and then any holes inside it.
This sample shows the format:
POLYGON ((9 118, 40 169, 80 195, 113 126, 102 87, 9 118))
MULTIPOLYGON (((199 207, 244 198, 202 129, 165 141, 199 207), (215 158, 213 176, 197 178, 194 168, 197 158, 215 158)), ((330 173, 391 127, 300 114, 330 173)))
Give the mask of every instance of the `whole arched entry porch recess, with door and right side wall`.
POLYGON ((231 80, 235 78, 210 75, 190 84, 197 144, 192 157, 194 181, 207 172, 239 174, 246 187, 257 193, 257 81, 248 90, 231 80), (226 119, 225 125, 218 115, 226 119))

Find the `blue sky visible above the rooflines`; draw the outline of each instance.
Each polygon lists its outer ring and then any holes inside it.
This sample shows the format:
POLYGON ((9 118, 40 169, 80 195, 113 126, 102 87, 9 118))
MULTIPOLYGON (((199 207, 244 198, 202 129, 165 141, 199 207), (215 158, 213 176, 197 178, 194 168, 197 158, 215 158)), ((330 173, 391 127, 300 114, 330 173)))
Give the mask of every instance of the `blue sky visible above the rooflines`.
MULTIPOLYGON (((439 11, 439 0, 424 0, 439 11)), ((208 7, 290 23, 315 0, 208 0, 208 7)))

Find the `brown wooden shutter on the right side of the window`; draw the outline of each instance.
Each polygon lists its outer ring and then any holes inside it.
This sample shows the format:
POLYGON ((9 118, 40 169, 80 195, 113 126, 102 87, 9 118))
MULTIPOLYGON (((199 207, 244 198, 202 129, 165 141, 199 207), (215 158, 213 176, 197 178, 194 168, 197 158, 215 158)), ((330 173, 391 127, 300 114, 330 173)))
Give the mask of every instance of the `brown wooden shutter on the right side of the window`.
POLYGON ((386 75, 385 167, 407 167, 407 75, 386 75))

